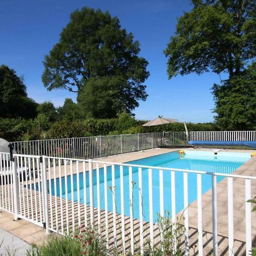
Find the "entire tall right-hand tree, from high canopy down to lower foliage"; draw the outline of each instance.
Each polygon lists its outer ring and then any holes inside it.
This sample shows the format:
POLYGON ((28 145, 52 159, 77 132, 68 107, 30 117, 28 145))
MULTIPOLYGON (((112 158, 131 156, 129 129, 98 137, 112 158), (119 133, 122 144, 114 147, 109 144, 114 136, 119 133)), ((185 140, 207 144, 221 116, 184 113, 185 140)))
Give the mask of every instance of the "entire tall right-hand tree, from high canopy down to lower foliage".
POLYGON ((176 35, 164 51, 169 78, 192 72, 228 73, 227 80, 213 86, 217 124, 221 129, 250 129, 255 109, 249 94, 255 95, 251 90, 255 80, 245 74, 247 63, 256 56, 256 1, 192 3, 192 10, 179 18, 176 35))

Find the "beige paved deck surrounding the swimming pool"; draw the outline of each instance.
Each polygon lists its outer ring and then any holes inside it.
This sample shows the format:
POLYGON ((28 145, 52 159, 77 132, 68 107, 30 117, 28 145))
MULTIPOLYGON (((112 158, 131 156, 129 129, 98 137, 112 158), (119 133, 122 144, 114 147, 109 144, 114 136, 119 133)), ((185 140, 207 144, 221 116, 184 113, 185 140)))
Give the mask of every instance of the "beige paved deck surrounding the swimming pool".
MULTIPOLYGON (((184 149, 184 148, 183 148, 184 149)), ((215 148, 214 148, 215 149, 215 148)), ((146 158, 149 156, 164 154, 166 152, 172 152, 179 150, 179 148, 158 148, 154 150, 145 150, 140 152, 133 152, 130 154, 123 154, 117 156, 109 156, 108 158, 98 159, 102 162, 114 162, 114 163, 124 163, 131 160, 137 160, 141 158, 146 158)), ((193 150, 187 148, 186 150, 193 150)), ((210 149, 196 148, 194 150, 210 151, 210 149)), ((255 152, 250 150, 221 150, 222 152, 255 152)), ((69 169, 69 168, 68 168, 69 169)), ((75 174, 75 170, 73 173, 75 174)), ((237 175, 247 175, 256 176, 256 156, 248 160, 240 168, 238 168, 233 174, 237 175)), ((51 174, 52 176, 52 174, 51 174)), ((62 172, 61 172, 62 176, 62 172)), ((217 213, 218 213, 218 241, 219 241, 219 255, 228 254, 228 193, 227 193, 227 179, 220 181, 217 184, 217 213)), ((245 182, 242 179, 235 178, 233 180, 234 188, 234 249, 233 251, 236 255, 245 254, 245 182)), ((251 195, 252 197, 256 195, 256 183, 251 182, 251 195)), ((54 199, 52 199, 54 202, 54 199)), ((204 193, 202 196, 203 202, 203 242, 204 242, 204 255, 211 255, 212 251, 212 191, 211 189, 204 193)), ((58 208, 60 205, 60 200, 58 200, 58 208)), ((63 199, 63 205, 65 205, 65 199, 63 199)), ((75 212, 78 211, 78 205, 75 203, 75 212)), ((80 210, 82 212, 81 218, 83 219, 84 212, 87 212, 89 216, 89 207, 84 211, 84 205, 80 204, 80 210)), ((53 206, 53 220, 55 220, 55 206, 53 206)), ((65 213, 72 214, 71 201, 68 201, 68 210, 64 207, 64 217, 65 213)), ((97 209, 94 210, 95 218, 97 218, 97 209)), ((113 230, 111 229, 113 222, 113 213, 108 212, 109 216, 109 232, 110 238, 112 237, 113 230)), ((120 221, 121 216, 117 214, 117 222, 120 221)), ((71 220, 69 220, 71 221, 71 220)), ((101 210, 101 222, 105 221, 105 211, 101 210)), ((256 214, 252 213, 251 218, 252 223, 252 234, 253 234, 253 245, 256 243, 256 214)), ((97 225, 97 221, 95 223, 97 225)), ((72 225, 72 223, 71 223, 72 225)), ((26 220, 13 221, 13 214, 7 212, 0 212, 0 228, 9 231, 14 236, 21 238, 28 243, 41 244, 46 240, 47 236, 45 234, 45 229, 40 228, 35 224, 27 222, 26 220)), ((130 239, 130 218, 125 218, 125 228, 126 228, 126 247, 129 250, 129 239, 130 239)), ((148 237, 149 225, 144 222, 144 237, 148 237)), ((105 232, 102 232, 104 234, 105 232)), ((118 233, 118 230, 117 230, 118 233)), ((120 241, 120 235, 118 235, 118 243, 120 241)), ((50 235, 51 236, 51 235, 50 235)), ((139 244, 139 221, 134 220, 134 236, 135 245, 139 244)), ((159 240, 158 226, 154 225, 154 236, 155 241, 159 240)), ((197 243, 197 201, 194 201, 189 205, 189 236, 190 236, 190 246, 197 243)), ((110 241, 113 242, 113 239, 110 241)), ((191 248, 191 255, 197 255, 197 247, 191 248)))

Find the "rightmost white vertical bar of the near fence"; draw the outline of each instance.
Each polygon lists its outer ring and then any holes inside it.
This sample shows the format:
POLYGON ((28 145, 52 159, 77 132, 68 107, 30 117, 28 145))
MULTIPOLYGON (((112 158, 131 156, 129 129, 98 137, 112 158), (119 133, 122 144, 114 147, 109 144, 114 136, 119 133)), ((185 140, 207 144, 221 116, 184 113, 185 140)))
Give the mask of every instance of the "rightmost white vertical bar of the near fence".
POLYGON ((251 250, 251 203, 247 200, 251 199, 251 180, 245 180, 245 230, 246 230, 246 255, 251 250))

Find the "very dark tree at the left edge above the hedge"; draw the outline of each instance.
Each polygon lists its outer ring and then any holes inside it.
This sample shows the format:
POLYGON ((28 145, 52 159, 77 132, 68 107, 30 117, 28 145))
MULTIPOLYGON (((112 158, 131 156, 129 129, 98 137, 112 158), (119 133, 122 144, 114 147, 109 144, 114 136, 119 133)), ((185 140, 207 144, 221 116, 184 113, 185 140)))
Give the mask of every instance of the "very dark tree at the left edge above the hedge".
POLYGON ((23 79, 14 69, 0 65, 0 117, 34 118, 37 104, 27 96, 23 79))

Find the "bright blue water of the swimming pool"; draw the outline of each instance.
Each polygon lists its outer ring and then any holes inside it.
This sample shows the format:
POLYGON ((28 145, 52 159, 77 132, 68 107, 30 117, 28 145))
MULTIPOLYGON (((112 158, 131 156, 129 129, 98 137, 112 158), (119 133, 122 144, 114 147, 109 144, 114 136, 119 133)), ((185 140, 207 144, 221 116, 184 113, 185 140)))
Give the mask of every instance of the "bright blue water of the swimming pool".
MULTIPOLYGON (((171 152, 150 158, 144 158, 129 162, 130 164, 138 164, 143 166, 158 166, 179 168, 185 170, 207 171, 231 174, 234 170, 240 167, 243 163, 250 158, 250 154, 246 153, 228 153, 219 152, 214 155, 209 151, 186 151, 185 155, 180 155, 179 152, 171 152)), ((77 177, 75 174, 75 166, 73 166, 73 190, 74 200, 77 201, 77 189, 80 191, 80 202, 85 203, 84 189, 86 189, 86 204, 90 204, 89 200, 89 173, 86 172, 86 187, 83 184, 82 173, 79 176, 80 184, 77 184, 77 177)), ((128 167, 123 167, 123 184, 124 184, 124 202, 125 202, 125 215, 130 216, 130 200, 129 200, 129 170, 128 167)), ((109 189, 112 186, 112 170, 111 167, 107 168, 108 177, 108 210, 113 210, 112 195, 113 192, 109 189)), ((218 176, 217 182, 224 179, 218 176)), ((134 218, 139 218, 139 189, 138 189, 138 168, 133 167, 133 181, 135 183, 133 188, 134 200, 134 218)), ((65 180, 61 178, 62 191, 59 189, 60 180, 57 179, 57 196, 66 198, 65 180)), ((97 205, 97 188, 96 188, 96 170, 93 170, 93 184, 94 184, 94 207, 97 205)), ((168 170, 163 171, 163 190, 164 190, 164 210, 171 213, 171 172, 168 170)), ((49 187, 49 183, 48 183, 49 187)), ((52 195, 54 195, 53 180, 51 180, 52 195)), ((207 192, 212 188, 211 175, 202 175, 202 192, 207 192)), ((175 192, 176 192, 176 213, 184 209, 183 200, 183 173, 175 172, 175 192)), ((68 199, 71 200, 71 177, 68 176, 68 199)), ((117 212, 121 213, 121 191, 120 191, 120 170, 119 166, 115 166, 115 202, 117 212)), ((153 214, 154 220, 157 219, 157 214, 160 212, 159 204, 159 170, 152 170, 152 195, 153 195, 153 214)), ((143 219, 149 221, 148 211, 148 169, 142 169, 142 197, 143 197, 143 219)), ((188 174, 188 201, 189 204, 197 199, 197 180, 196 174, 188 174)), ((104 170, 100 169, 100 208, 105 209, 104 204, 104 170)))

